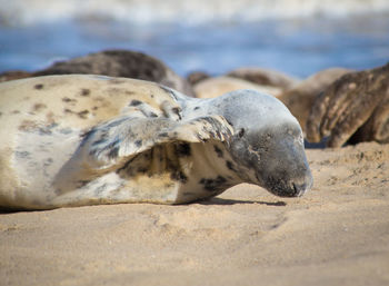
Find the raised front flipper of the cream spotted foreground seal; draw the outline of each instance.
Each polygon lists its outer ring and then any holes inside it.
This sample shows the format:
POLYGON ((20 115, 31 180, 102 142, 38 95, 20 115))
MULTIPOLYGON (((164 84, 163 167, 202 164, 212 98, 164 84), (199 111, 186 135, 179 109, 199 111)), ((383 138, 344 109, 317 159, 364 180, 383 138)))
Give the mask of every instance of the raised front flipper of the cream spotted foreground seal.
POLYGON ((80 188, 104 174, 121 169, 131 159, 157 145, 208 139, 229 141, 232 127, 221 116, 206 116, 186 121, 167 118, 122 116, 88 131, 73 156, 54 179, 57 193, 80 188))

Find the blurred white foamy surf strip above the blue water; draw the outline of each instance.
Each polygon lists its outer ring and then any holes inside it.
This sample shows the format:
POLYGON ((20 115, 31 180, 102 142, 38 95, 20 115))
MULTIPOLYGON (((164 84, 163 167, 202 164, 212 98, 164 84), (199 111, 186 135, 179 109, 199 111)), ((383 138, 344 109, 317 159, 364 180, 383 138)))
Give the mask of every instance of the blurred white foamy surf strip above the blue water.
POLYGON ((386 0, 0 0, 0 26, 67 20, 133 24, 235 23, 326 17, 389 14, 386 0))

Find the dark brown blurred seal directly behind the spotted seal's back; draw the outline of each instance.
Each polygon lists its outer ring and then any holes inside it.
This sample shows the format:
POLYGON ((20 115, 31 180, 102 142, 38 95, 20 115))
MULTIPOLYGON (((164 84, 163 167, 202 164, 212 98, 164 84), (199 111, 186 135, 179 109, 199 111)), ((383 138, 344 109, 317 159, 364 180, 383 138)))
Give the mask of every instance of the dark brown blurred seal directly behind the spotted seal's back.
POLYGON ((194 96, 191 85, 161 60, 131 50, 104 50, 66 61, 53 62, 50 67, 34 72, 22 70, 0 73, 0 82, 53 75, 103 75, 154 81, 173 88, 188 96, 194 96))

